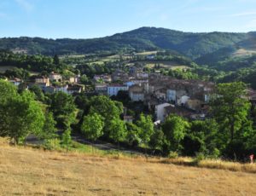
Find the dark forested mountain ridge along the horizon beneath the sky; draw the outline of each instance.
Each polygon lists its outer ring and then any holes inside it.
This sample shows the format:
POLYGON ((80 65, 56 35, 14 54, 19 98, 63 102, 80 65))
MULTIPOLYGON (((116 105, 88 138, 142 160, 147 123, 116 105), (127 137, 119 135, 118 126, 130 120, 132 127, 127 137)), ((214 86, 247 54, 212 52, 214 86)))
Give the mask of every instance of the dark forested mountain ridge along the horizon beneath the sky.
POLYGON ((232 48, 239 43, 242 46, 247 46, 252 43, 250 40, 256 40, 255 37, 255 32, 192 33, 177 32, 165 28, 142 27, 131 32, 94 39, 1 38, 0 49, 43 55, 172 49, 189 58, 196 59, 219 49, 232 48))

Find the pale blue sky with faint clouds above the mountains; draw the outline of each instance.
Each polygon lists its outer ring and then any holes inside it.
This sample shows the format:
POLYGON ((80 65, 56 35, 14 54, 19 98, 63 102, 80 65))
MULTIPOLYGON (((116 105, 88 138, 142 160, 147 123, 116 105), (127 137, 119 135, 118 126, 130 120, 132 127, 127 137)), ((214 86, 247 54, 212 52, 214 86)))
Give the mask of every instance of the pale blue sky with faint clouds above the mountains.
POLYGON ((141 26, 256 31, 256 0, 0 0, 0 37, 90 38, 141 26))

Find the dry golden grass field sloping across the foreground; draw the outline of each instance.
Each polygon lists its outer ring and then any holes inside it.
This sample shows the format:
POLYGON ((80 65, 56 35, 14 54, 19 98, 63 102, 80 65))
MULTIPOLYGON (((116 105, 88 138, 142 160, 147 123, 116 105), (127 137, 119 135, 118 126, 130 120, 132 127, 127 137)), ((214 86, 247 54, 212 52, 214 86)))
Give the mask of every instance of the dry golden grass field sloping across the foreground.
POLYGON ((256 174, 144 158, 0 148, 1 195, 256 195, 256 174))

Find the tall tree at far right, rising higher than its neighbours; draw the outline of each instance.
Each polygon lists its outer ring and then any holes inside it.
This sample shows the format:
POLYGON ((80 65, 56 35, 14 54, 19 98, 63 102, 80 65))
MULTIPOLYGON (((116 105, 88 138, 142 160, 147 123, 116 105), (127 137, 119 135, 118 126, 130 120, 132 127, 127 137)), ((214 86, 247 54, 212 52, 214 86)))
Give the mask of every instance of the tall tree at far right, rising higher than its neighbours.
POLYGON ((245 96, 246 84, 241 82, 218 84, 216 94, 212 96, 211 112, 220 125, 220 130, 224 131, 226 141, 239 137, 243 125, 250 121, 248 114, 251 104, 245 96))

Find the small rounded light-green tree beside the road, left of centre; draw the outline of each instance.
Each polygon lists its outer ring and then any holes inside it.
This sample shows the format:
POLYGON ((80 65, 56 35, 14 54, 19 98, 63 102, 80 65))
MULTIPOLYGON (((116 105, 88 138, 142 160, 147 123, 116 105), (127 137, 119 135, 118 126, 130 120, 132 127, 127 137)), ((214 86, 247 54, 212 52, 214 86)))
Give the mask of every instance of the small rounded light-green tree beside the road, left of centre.
POLYGON ((96 141, 96 139, 103 135, 103 119, 104 118, 97 113, 89 114, 84 117, 81 130, 88 139, 96 141))

